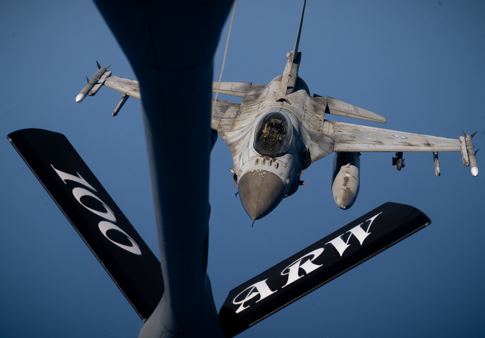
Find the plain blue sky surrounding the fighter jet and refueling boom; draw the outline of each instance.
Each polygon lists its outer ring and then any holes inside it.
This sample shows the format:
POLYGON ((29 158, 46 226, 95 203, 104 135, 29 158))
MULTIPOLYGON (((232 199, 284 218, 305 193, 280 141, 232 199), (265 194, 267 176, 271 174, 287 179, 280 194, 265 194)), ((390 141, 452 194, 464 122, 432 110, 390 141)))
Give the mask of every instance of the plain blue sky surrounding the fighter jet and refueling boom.
MULTIPOLYGON (((281 74, 301 6, 240 0, 223 80, 267 84, 281 74)), ((127 8, 120 20, 129 19, 127 8)), ((117 76, 133 72, 90 1, 2 1, 0 48, 0 337, 137 337, 142 321, 6 139, 23 128, 65 134, 158 254, 140 102, 130 98, 113 118, 121 94, 109 88, 74 100, 96 60, 113 64, 117 76)), ((309 0, 300 51, 299 75, 311 93, 388 119, 386 126, 346 122, 453 138, 478 129, 475 148, 485 148, 484 0, 309 0)), ((180 91, 190 95, 190 87, 180 91)), ((483 337, 482 151, 478 177, 459 153, 440 153, 439 178, 430 153, 405 153, 401 172, 393 154, 363 154, 360 193, 345 211, 332 198, 329 156, 251 228, 219 139, 208 268, 217 308, 232 288, 393 201, 421 209, 432 224, 239 337, 483 337)), ((187 203, 197 203, 201 178, 190 153, 174 151, 167 165, 168 179, 194 182, 187 203), (194 174, 178 176, 186 165, 194 174)))

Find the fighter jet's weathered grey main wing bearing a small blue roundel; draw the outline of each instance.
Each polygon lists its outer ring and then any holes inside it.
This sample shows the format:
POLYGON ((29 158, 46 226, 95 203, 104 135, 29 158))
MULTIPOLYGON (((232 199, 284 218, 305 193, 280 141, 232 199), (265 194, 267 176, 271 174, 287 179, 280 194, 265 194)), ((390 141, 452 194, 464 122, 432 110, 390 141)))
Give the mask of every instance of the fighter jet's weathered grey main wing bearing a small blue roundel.
POLYGON ((336 152, 461 151, 458 139, 328 120, 323 126, 332 135, 333 151, 336 152))

